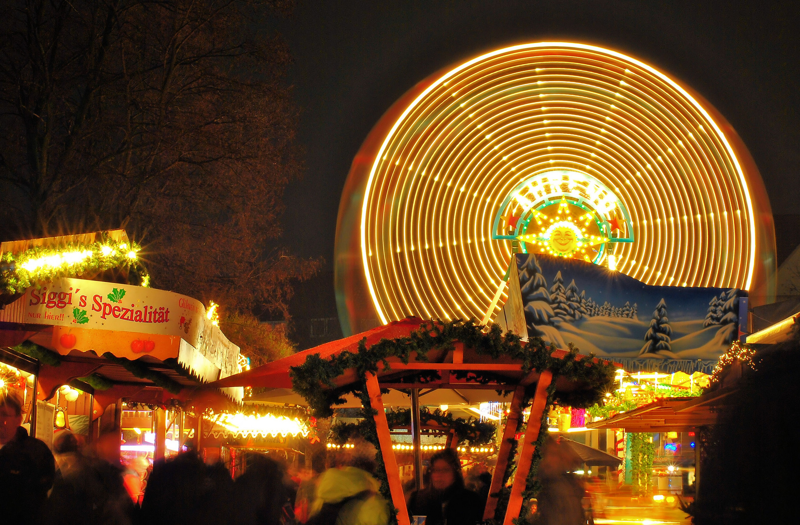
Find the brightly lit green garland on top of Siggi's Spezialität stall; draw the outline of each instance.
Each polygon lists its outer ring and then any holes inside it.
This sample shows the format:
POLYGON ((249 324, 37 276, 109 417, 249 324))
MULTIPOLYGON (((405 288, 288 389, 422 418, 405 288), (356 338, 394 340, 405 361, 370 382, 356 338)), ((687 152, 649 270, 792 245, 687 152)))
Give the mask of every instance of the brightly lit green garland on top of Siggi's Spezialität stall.
POLYGON ((140 250, 134 242, 105 238, 88 244, 34 246, 20 253, 6 252, 0 258, 0 293, 14 296, 59 277, 82 276, 112 268, 133 272, 137 282, 131 284, 147 286, 150 276, 138 260, 140 250))

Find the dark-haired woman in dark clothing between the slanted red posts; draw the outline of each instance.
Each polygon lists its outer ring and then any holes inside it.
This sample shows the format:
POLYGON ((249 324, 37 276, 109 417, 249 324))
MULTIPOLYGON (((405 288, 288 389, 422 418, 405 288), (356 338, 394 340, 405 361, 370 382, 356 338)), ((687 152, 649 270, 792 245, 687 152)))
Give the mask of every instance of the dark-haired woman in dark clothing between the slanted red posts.
POLYGON ((473 525, 482 520, 486 501, 464 487, 461 462, 453 449, 430 458, 428 478, 428 486, 411 495, 410 515, 427 516, 426 525, 473 525))

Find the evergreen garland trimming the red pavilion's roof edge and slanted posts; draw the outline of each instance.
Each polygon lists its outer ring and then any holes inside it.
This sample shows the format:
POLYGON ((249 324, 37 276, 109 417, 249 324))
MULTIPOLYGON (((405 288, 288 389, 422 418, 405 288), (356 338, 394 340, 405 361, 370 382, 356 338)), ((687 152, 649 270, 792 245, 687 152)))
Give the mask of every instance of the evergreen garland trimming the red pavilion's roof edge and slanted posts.
MULTIPOLYGON (((504 335, 497 324, 493 324, 486 331, 486 327, 474 319, 439 320, 422 324, 409 336, 398 337, 394 340, 384 339, 370 348, 366 348, 366 338, 364 338, 358 343, 358 352, 356 353, 345 351, 327 359, 323 359, 318 354, 309 356, 305 363, 290 368, 293 389, 309 402, 312 413, 317 417, 332 416, 334 405, 344 403, 343 396, 346 394, 352 393, 358 396, 362 402, 359 417, 365 420, 362 427, 359 428, 359 432, 364 439, 380 451, 378 432, 374 424, 375 412, 371 408, 370 396, 366 391, 366 372, 377 373, 378 365, 381 363, 385 368, 390 368, 386 362, 389 357, 398 357, 407 363, 410 357, 416 354, 418 360, 426 360, 430 350, 434 348, 453 349, 455 341, 461 342, 467 348, 474 349, 481 356, 490 356, 495 360, 506 357, 520 361, 523 375, 532 370, 537 372, 550 370, 554 376, 562 376, 566 380, 581 385, 582 388, 575 392, 556 392, 555 381, 553 381, 548 388, 547 403, 542 412, 542 431, 539 432, 537 452, 534 453, 534 464, 528 478, 526 487, 528 490, 525 492, 526 495, 535 494, 538 491, 538 485, 533 480, 538 460, 541 458, 538 451, 541 450, 541 445, 547 435, 547 414, 550 412, 550 408, 557 402, 575 408, 586 408, 597 403, 602 397, 602 392, 609 391, 614 384, 615 368, 609 361, 594 362, 592 354, 578 359, 578 349, 571 344, 569 353, 559 359, 552 356, 554 348, 548 347, 539 337, 523 342, 513 332, 506 332, 504 335), (336 387, 334 380, 347 369, 355 369, 359 380, 345 387, 336 387)), ((504 380, 502 376, 498 376, 497 379, 504 380)), ((509 384, 509 386, 516 385, 509 384)), ((387 501, 391 502, 386 467, 380 453, 375 456, 375 462, 377 463, 375 473, 381 482, 381 493, 387 501)), ((510 463, 513 462, 510 461, 510 463)), ((506 475, 509 475, 508 472, 506 475)), ((505 490, 510 491, 507 488, 505 490)), ((391 522, 396 523, 396 509, 391 503, 390 507, 391 522)), ((500 511, 499 507, 498 511, 500 511)))

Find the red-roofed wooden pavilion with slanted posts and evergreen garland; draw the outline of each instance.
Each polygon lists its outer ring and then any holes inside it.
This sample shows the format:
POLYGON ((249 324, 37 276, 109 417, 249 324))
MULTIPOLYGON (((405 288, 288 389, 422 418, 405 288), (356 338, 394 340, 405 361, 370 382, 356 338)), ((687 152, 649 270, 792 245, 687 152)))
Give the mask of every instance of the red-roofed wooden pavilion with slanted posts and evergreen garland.
MULTIPOLYGON (((494 518, 506 467, 514 461, 514 434, 522 410, 531 402, 524 428, 522 450, 516 458, 504 523, 510 525, 522 508, 534 450, 544 433, 542 415, 555 400, 571 404, 594 403, 613 380, 613 365, 577 352, 547 348, 541 340, 522 343, 499 328, 485 330, 472 321, 430 322, 417 318, 395 321, 384 327, 321 345, 274 361, 238 376, 218 381, 218 387, 293 388, 319 416, 330 416, 338 400, 352 394, 372 408, 374 432, 386 467, 387 495, 398 508, 398 522, 410 523, 403 497, 397 461, 392 449, 382 388, 510 390, 508 424, 498 451, 485 518, 494 518)), ((418 412, 412 399, 412 417, 418 412)), ((414 427, 419 428, 418 417, 414 427)), ((414 452, 419 454, 415 440, 414 452)), ((417 464, 418 461, 417 461, 417 464)))

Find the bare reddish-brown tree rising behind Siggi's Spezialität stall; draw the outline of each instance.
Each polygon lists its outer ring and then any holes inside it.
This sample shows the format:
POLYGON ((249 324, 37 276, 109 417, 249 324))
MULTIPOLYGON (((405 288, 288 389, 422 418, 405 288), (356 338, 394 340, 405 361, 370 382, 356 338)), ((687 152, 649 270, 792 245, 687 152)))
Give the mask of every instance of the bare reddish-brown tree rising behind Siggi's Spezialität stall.
MULTIPOLYGON (((275 0, 0 0, 6 237, 120 225, 154 285, 287 315, 300 173, 275 0)), ((231 310, 233 311, 233 310, 231 310)))

